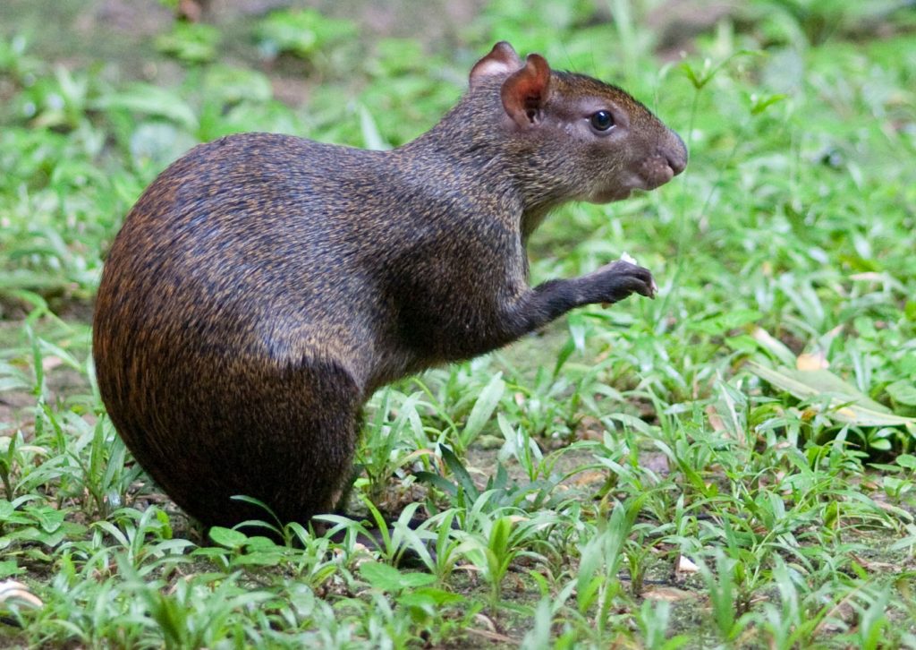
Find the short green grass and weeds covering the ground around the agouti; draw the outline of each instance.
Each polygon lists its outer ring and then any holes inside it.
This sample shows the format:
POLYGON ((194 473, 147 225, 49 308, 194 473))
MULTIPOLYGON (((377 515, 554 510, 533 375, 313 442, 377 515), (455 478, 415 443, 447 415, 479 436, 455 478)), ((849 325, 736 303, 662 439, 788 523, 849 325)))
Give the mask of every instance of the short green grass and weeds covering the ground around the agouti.
POLYGON ((0 588, 0 643, 916 646, 914 21, 759 1, 661 63, 650 4, 500 0, 448 50, 312 14, 176 26, 144 53, 180 61, 159 84, 0 21, 0 578, 25 589, 0 588), (224 60, 221 30, 255 45, 224 60), (660 297, 379 391, 355 490, 397 522, 377 547, 335 517, 202 538, 93 385, 123 215, 225 133, 405 142, 497 39, 626 83, 688 141, 682 178, 532 238, 533 281, 627 251, 660 297))

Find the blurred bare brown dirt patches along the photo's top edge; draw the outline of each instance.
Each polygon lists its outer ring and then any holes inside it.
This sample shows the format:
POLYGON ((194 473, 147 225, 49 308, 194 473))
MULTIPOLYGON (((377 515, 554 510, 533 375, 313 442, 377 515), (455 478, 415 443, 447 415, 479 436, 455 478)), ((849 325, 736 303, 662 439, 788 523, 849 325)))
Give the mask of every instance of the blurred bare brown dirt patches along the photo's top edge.
MULTIPOLYGON (((25 35, 30 51, 69 68, 102 61, 105 71, 116 79, 169 82, 179 76, 179 64, 158 55, 153 39, 168 31, 180 16, 221 27, 226 35, 220 54, 224 61, 241 60, 269 73, 269 62, 261 59, 244 27, 272 9, 314 7, 331 17, 355 20, 361 38, 370 42, 409 37, 420 39, 429 50, 448 50, 461 42, 463 28, 486 2, 425 0, 420 11, 413 0, 180 0, 178 4, 176 11, 157 0, 3 0, 0 36, 25 35)), ((658 34, 663 58, 689 50, 693 37, 737 11, 734 4, 714 0, 645 3, 652 5, 644 19, 658 34)), ((590 20, 613 21, 613 16, 604 3, 595 3, 590 20)))

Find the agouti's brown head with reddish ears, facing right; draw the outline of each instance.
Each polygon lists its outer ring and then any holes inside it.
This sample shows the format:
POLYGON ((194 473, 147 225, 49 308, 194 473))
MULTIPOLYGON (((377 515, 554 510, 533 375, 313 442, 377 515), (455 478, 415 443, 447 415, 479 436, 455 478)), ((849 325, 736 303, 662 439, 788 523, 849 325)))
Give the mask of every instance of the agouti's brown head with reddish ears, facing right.
POLYGON ((489 127, 501 131, 533 204, 618 201, 687 165, 682 139, 648 108, 616 86, 551 71, 539 54, 522 62, 511 45, 496 43, 470 84, 469 97, 498 114, 489 127))

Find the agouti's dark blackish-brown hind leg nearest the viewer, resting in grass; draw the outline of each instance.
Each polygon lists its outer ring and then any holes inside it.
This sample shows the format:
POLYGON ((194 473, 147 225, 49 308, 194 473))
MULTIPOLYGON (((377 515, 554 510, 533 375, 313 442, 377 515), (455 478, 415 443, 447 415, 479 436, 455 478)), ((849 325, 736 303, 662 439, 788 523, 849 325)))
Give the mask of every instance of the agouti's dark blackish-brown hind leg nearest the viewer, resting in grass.
POLYGON ((247 366, 213 373, 187 392, 193 396, 179 413, 193 415, 184 423, 197 432, 183 453, 191 462, 154 472, 187 512, 208 525, 271 520, 235 495, 263 501, 280 523, 333 512, 353 471, 362 406, 344 368, 313 359, 247 366))

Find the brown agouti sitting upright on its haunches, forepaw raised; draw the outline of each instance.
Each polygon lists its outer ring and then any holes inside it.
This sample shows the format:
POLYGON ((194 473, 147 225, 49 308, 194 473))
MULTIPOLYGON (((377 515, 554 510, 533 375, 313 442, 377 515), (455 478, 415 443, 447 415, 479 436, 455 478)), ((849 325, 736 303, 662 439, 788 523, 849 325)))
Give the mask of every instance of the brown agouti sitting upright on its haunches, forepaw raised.
POLYGON ((651 190, 681 138, 615 86, 497 43, 442 121, 392 151, 220 138, 163 171, 105 263, 93 354, 114 427, 206 525, 332 512, 364 402, 573 307, 651 297, 615 261, 528 284, 552 208, 651 190))

